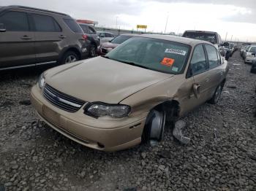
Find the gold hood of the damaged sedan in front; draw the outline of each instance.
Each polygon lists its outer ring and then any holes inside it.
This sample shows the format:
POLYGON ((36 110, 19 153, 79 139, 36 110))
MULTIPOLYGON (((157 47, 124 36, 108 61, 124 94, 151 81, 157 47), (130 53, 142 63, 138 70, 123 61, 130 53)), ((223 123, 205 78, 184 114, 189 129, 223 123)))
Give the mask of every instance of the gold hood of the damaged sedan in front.
POLYGON ((117 104, 129 95, 173 77, 108 58, 91 58, 45 72, 45 82, 84 101, 117 104))

